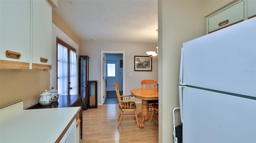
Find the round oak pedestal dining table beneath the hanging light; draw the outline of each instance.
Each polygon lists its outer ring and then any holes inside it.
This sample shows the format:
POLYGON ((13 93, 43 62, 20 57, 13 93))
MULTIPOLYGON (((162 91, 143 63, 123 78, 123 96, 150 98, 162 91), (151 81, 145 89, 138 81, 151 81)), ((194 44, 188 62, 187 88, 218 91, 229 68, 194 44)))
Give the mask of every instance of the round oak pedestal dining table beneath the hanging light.
POLYGON ((131 94, 142 100, 142 112, 138 114, 138 117, 142 118, 140 128, 144 128, 144 121, 148 120, 148 100, 158 100, 158 90, 154 88, 136 88, 130 90, 131 94))

